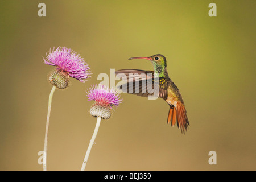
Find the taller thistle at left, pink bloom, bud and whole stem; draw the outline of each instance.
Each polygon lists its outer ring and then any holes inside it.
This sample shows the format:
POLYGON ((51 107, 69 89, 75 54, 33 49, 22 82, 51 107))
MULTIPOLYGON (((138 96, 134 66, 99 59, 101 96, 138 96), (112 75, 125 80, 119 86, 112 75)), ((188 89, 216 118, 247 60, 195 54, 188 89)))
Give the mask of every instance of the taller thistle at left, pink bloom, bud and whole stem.
POLYGON ((56 50, 51 49, 46 57, 43 58, 44 63, 55 66, 55 70, 49 76, 49 82, 53 85, 51 93, 49 94, 48 112, 46 120, 46 134, 44 137, 44 155, 43 155, 43 169, 47 170, 47 146, 48 146, 48 131, 49 118, 51 114, 52 96, 56 88, 66 89, 69 85, 69 78, 73 77, 81 82, 85 82, 90 76, 90 68, 86 61, 80 57, 79 54, 66 47, 58 47, 56 50))

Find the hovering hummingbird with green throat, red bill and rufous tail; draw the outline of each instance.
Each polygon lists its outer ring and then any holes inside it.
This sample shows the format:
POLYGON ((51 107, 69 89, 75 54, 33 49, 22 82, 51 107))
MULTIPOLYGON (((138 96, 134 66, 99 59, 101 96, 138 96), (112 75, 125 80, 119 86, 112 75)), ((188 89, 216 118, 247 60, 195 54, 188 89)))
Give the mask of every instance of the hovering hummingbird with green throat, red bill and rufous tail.
MULTIPOLYGON (((149 60, 154 67, 154 71, 145 71, 141 69, 121 69, 115 71, 117 77, 120 77, 122 80, 126 78, 129 80, 126 84, 120 86, 119 89, 122 89, 123 86, 126 86, 127 90, 129 87, 133 86, 132 94, 136 94, 137 96, 148 97, 152 95, 152 93, 148 92, 148 88, 146 91, 143 91, 143 84, 142 81, 146 80, 146 84, 148 81, 151 81, 152 88, 155 85, 156 80, 158 80, 158 97, 163 98, 170 106, 168 117, 167 117, 167 124, 171 123, 171 126, 174 126, 177 122, 177 127, 181 129, 181 133, 185 134, 187 131, 189 121, 187 117, 187 111, 185 109, 185 104, 183 98, 180 94, 179 89, 177 86, 172 82, 171 78, 168 76, 167 72, 167 63, 166 57, 163 55, 157 54, 150 57, 131 57, 129 60, 133 59, 146 59, 149 60), (156 77, 158 79, 156 79, 156 77), (132 79, 131 79, 132 78, 132 79), (131 84, 131 82, 133 82, 131 84), (134 85, 138 84, 139 88, 135 88, 134 85), (121 88, 122 87, 122 88, 121 88), (137 92, 135 92, 137 90, 137 92)), ((129 93, 129 92, 127 92, 129 93)))

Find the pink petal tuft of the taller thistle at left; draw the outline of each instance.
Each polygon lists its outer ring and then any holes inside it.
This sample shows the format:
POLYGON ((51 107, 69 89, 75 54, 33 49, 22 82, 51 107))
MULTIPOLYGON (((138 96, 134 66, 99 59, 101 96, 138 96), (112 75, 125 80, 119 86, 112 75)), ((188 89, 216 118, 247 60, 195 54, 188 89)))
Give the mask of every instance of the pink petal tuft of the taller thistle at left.
MULTIPOLYGON (((43 58, 44 59, 44 58, 43 58)), ((76 78, 85 82, 89 78, 89 67, 84 58, 67 47, 58 47, 51 52, 51 49, 44 59, 44 63, 56 67, 56 71, 64 73, 68 77, 76 78)))

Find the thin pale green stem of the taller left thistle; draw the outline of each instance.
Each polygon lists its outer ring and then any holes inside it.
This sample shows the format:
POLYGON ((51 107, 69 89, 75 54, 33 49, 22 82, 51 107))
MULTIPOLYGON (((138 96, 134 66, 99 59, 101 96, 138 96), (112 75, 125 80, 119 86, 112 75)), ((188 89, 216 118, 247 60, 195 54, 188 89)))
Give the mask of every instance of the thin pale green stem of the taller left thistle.
POLYGON ((47 113, 47 120, 46 120, 46 135, 44 137, 44 155, 43 155, 43 167, 44 171, 46 171, 46 156, 47 156, 47 142, 48 142, 48 131, 49 131, 49 117, 51 114, 51 105, 52 105, 52 96, 56 89, 56 86, 52 87, 51 93, 49 94, 49 101, 48 101, 48 113, 47 113))

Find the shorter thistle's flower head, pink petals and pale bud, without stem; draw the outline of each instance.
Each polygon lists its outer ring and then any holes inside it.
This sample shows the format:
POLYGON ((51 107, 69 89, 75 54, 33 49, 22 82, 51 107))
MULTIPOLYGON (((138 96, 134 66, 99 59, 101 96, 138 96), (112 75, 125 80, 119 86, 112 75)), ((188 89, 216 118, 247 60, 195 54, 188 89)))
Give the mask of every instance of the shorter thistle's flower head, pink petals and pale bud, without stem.
POLYGON ((108 89, 104 85, 92 86, 87 92, 88 101, 95 101, 90 107, 90 115, 109 119, 112 115, 112 106, 118 107, 122 102, 120 96, 114 89, 108 89))

